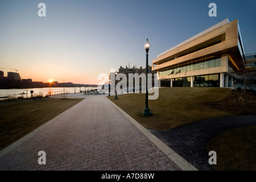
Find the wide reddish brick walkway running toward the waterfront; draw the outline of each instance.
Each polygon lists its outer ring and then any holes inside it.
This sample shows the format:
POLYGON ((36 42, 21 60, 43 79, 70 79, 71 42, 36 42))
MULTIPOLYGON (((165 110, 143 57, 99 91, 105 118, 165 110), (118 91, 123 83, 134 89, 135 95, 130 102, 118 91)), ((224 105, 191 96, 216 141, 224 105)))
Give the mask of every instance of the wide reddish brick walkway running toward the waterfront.
MULTIPOLYGON (((1 151, 2 152, 2 151, 1 151)), ((0 170, 180 170, 108 98, 86 97, 0 157, 0 170), (46 152, 46 165, 38 152, 46 152)))

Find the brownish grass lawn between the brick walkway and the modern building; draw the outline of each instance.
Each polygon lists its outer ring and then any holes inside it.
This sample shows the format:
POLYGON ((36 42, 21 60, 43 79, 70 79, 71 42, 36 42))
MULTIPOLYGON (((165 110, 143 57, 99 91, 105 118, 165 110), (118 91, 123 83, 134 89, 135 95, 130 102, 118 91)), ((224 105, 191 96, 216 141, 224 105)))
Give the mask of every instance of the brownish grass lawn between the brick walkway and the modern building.
POLYGON ((148 100, 151 117, 143 117, 145 94, 131 93, 108 97, 144 127, 167 130, 187 123, 213 117, 233 115, 226 110, 206 106, 226 98, 232 89, 225 88, 160 88, 157 100, 148 100))

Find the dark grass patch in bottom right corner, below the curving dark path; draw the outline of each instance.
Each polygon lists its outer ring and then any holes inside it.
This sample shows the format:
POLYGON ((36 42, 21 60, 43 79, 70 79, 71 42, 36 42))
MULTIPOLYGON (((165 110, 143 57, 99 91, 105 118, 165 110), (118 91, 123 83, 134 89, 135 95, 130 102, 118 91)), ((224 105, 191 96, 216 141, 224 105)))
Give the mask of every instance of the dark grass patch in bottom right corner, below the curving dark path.
POLYGON ((216 151, 214 170, 256 170, 256 126, 241 127, 213 138, 208 152, 216 151))

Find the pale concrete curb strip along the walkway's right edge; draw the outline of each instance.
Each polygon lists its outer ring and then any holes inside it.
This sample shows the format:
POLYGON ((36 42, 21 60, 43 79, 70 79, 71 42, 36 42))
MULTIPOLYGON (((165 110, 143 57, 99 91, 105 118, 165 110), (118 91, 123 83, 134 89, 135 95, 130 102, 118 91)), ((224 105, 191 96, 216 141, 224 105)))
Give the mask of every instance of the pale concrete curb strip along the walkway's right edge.
MULTIPOLYGON (((108 99, 109 100, 109 99, 108 99)), ((174 163, 177 164, 183 171, 198 171, 196 167, 192 164, 188 163, 187 160, 182 158, 179 154, 173 151, 167 144, 163 143, 162 140, 155 137, 150 131, 144 128, 141 124, 139 124, 135 119, 133 119, 129 114, 123 111, 120 107, 114 104, 114 102, 110 101, 127 119, 129 119, 141 132, 146 135, 148 139, 150 139, 160 150, 164 152, 174 163)))

